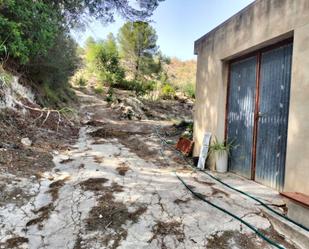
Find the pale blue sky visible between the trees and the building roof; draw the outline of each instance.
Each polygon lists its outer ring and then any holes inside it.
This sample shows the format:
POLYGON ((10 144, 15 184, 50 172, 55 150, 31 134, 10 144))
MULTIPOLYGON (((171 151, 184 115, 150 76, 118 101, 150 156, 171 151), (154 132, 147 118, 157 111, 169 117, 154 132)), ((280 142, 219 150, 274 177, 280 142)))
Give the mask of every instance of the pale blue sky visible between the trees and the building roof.
MULTIPOLYGON (((158 35, 158 45, 163 54, 182 60, 195 58, 194 41, 215 28, 253 0, 165 0, 152 16, 152 26, 158 35)), ((83 45, 87 37, 104 39, 109 32, 117 35, 124 20, 102 25, 91 23, 86 32, 74 34, 83 45)))

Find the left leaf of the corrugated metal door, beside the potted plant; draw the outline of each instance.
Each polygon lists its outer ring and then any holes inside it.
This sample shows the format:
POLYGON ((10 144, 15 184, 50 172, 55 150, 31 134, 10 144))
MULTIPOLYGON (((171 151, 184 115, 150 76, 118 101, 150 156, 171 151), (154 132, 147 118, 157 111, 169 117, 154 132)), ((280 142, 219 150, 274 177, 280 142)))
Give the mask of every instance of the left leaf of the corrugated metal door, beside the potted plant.
POLYGON ((256 56, 230 65, 228 140, 237 145, 232 151, 229 170, 250 178, 256 92, 256 56))

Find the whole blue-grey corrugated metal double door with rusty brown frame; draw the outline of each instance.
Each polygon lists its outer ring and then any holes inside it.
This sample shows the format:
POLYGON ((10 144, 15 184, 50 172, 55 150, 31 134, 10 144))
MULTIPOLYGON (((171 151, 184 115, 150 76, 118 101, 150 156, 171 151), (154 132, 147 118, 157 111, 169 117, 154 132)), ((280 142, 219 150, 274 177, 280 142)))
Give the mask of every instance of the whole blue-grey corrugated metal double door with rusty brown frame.
POLYGON ((284 183, 292 44, 230 64, 229 169, 281 190, 284 183))

